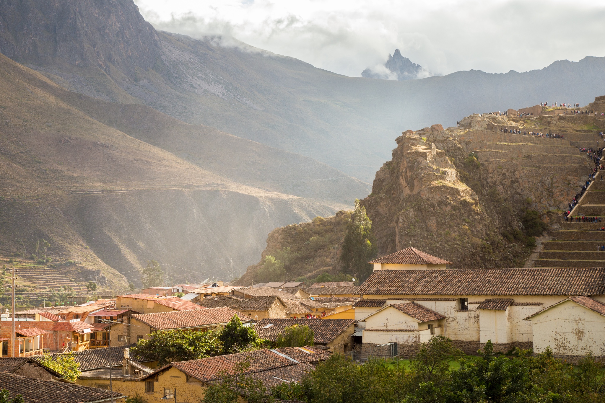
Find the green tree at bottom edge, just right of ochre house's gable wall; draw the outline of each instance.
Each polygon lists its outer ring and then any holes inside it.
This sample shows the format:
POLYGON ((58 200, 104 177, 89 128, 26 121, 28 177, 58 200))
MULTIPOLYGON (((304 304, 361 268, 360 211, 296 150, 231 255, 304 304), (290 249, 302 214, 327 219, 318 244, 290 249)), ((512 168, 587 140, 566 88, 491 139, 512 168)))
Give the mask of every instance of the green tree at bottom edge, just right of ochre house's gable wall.
POLYGON ((246 375, 249 361, 234 366, 233 374, 223 370, 217 373, 220 382, 209 384, 202 402, 204 403, 237 403, 238 396, 244 396, 248 403, 272 403, 275 399, 267 396, 263 381, 246 375))

